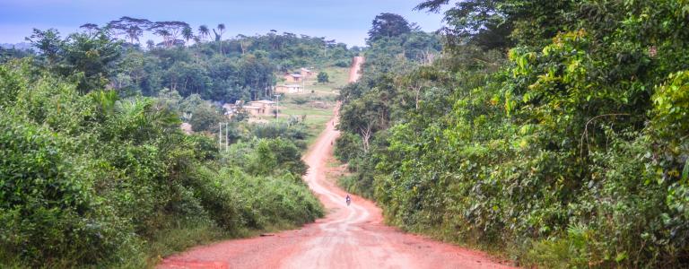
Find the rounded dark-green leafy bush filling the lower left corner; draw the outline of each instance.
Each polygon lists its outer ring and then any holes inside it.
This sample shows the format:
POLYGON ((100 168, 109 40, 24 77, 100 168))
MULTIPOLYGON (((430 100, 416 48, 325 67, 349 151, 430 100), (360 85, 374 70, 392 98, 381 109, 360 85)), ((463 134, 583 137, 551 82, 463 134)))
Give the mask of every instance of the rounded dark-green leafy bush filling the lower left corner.
POLYGON ((2 260, 95 265, 131 240, 128 225, 94 193, 89 164, 65 152, 65 137, 5 115, 0 129, 2 260))

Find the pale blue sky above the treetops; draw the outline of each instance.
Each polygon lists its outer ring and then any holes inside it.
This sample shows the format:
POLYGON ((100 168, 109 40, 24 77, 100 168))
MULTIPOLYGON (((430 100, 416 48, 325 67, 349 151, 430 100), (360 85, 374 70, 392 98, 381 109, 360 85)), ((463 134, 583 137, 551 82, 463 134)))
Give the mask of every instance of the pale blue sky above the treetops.
MULTIPOLYGON (((441 15, 413 11, 422 0, 0 0, 0 43, 22 42, 31 29, 56 28, 65 35, 79 25, 103 25, 121 16, 151 21, 188 22, 214 27, 225 23, 224 37, 268 30, 326 37, 351 46, 364 44, 379 13, 398 13, 423 30, 438 30, 441 15)), ((148 37, 144 37, 144 40, 148 37)))

